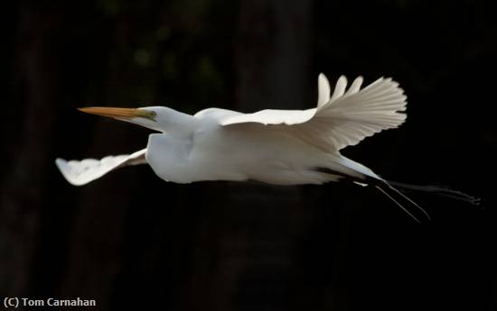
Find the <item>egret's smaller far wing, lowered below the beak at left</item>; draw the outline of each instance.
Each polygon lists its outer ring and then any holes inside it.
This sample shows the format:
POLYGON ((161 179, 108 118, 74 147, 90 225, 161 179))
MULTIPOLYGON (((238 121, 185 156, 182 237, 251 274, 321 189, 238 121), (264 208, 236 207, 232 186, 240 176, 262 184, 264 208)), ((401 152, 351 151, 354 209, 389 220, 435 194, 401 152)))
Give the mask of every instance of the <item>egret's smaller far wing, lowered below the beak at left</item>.
POLYGON ((82 186, 90 181, 100 178, 109 171, 122 168, 128 165, 144 164, 145 151, 136 151, 133 154, 122 154, 117 156, 108 156, 100 160, 63 160, 57 158, 55 164, 61 170, 64 178, 74 186, 82 186))

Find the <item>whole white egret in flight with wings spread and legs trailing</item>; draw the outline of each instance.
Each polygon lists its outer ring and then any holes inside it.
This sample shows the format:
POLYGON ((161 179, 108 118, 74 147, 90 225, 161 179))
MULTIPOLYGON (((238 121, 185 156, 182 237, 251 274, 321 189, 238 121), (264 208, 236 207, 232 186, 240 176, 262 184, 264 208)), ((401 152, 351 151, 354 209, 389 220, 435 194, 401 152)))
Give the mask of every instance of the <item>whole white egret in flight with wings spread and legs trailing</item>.
POLYGON ((323 184, 350 180, 380 189, 393 202, 416 206, 371 169, 347 159, 342 148, 361 142, 406 120, 407 96, 391 78, 379 78, 361 88, 340 77, 333 95, 324 74, 318 78, 317 107, 307 110, 262 110, 254 114, 209 108, 183 114, 164 106, 137 109, 86 107, 80 111, 136 123, 152 133, 146 148, 130 155, 101 160, 55 162, 75 186, 89 183, 109 171, 148 163, 166 181, 258 180, 275 185, 323 184), (395 198, 397 197, 397 198, 395 198))

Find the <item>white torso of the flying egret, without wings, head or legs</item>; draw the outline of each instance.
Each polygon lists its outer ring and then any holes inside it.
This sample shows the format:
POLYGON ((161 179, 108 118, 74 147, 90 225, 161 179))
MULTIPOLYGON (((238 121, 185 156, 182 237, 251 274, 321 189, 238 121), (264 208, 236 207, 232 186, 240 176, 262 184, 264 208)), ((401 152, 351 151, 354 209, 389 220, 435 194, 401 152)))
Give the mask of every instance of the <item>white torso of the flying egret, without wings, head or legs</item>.
POLYGON ((339 178, 316 170, 325 167, 360 177, 342 164, 347 161, 342 155, 322 151, 281 128, 225 128, 216 115, 192 116, 191 123, 195 126, 185 133, 150 135, 145 158, 160 178, 177 183, 253 179, 275 185, 339 178))

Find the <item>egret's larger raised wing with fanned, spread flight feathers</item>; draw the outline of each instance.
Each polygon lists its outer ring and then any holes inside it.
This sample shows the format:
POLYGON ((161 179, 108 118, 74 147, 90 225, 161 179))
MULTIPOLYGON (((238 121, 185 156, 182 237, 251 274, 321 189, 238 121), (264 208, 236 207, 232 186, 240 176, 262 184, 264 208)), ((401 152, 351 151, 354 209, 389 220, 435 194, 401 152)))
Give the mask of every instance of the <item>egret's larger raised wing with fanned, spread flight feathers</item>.
POLYGON ((398 127, 406 120, 407 96, 391 78, 379 78, 361 89, 356 78, 349 89, 347 79, 338 79, 330 96, 324 74, 318 79, 318 106, 307 110, 262 110, 255 114, 231 115, 224 126, 242 123, 288 126, 288 131, 326 151, 340 151, 382 130, 398 127))

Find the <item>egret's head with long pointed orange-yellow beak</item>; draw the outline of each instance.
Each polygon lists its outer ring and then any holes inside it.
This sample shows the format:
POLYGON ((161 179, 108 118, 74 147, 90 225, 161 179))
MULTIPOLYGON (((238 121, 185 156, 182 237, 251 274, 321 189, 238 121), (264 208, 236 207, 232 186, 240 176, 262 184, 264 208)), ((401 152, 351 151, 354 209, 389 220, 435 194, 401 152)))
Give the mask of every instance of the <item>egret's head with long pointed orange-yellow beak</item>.
POLYGON ((165 132, 181 119, 180 112, 164 106, 142 108, 85 107, 78 108, 87 114, 108 116, 120 121, 135 123, 146 128, 165 132))

